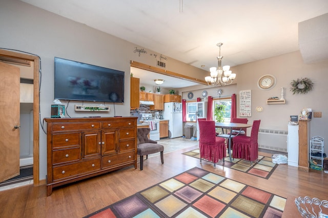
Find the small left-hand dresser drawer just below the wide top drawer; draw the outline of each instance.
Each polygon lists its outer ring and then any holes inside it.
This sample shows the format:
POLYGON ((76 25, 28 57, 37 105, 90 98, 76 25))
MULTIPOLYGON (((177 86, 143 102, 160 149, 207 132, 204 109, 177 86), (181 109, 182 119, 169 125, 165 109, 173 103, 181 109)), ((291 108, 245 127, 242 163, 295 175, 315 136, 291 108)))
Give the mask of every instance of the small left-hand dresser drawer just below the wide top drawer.
POLYGON ((80 145, 80 133, 62 133, 52 135, 52 148, 62 148, 80 145))

